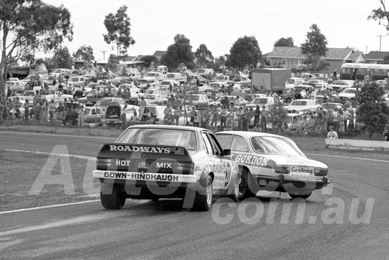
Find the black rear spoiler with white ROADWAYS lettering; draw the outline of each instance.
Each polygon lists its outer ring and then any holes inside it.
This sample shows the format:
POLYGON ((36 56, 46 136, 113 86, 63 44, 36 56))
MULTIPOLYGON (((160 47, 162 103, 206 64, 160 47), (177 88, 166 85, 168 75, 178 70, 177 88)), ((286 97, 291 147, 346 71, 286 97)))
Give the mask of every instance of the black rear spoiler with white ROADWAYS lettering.
POLYGON ((134 152, 147 154, 148 157, 189 157, 188 150, 183 146, 168 145, 140 145, 130 143, 105 143, 100 150, 100 154, 120 154, 130 155, 134 152))

